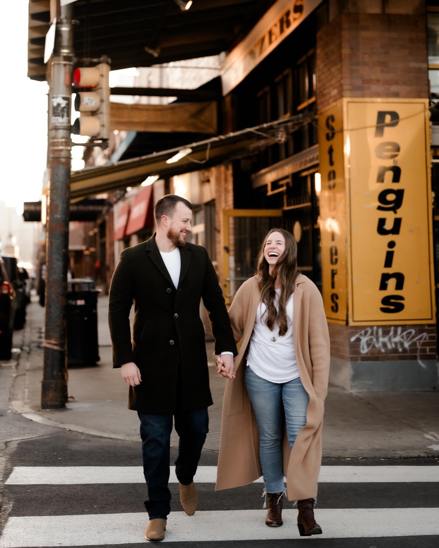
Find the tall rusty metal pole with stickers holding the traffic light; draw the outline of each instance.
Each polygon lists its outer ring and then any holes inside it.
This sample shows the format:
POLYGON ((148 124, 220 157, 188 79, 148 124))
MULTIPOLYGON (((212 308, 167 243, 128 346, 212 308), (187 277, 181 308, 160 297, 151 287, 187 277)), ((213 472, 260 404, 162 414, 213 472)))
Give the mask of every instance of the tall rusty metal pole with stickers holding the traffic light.
POLYGON ((51 104, 48 142, 50 182, 46 225, 46 317, 42 409, 64 407, 67 401, 66 305, 73 66, 72 4, 58 7, 58 15, 50 66, 51 104))

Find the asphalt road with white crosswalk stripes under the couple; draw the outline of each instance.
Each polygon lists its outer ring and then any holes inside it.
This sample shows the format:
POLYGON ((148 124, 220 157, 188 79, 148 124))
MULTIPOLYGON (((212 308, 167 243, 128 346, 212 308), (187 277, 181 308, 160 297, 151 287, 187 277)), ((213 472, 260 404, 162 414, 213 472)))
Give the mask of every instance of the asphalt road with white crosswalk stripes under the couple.
MULTIPOLYGON (((172 449, 171 465, 175 457, 172 449)), ((175 548, 283 548, 309 540, 299 536, 292 503, 285 503, 283 527, 264 525, 261 483, 215 492, 216 460, 216 452, 206 450, 202 455, 199 510, 193 517, 182 512, 178 483, 171 473, 166 544, 175 548)), ((53 430, 9 444, 0 548, 130 548, 147 543, 143 539, 147 515, 141 464, 140 443, 76 432, 53 430)), ((323 535, 311 539, 320 546, 438 545, 437 460, 325 460, 321 478, 316 518, 323 535)))

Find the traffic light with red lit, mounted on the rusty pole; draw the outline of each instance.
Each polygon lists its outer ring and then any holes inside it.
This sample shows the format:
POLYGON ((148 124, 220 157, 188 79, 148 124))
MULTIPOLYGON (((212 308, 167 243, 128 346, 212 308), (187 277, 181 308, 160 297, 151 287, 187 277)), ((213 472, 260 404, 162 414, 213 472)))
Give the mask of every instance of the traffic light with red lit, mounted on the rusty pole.
POLYGON ((78 67, 73 73, 75 88, 91 88, 78 91, 75 110, 81 112, 72 125, 75 135, 88 135, 93 140, 110 137, 110 86, 108 75, 110 65, 100 63, 94 67, 78 67))

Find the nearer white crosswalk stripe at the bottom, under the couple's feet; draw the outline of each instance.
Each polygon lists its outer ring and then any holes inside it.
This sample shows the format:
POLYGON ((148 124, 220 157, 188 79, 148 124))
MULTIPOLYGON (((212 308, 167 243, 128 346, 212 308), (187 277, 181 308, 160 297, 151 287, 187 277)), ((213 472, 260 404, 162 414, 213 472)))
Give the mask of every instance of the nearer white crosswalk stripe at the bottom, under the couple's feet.
MULTIPOLYGON (((285 510, 284 527, 268 528, 262 510, 171 512, 165 541, 266 540, 299 537, 297 510, 285 510)), ((439 509, 320 509, 324 537, 352 538, 439 534, 439 509)), ((9 518, 0 548, 130 544, 143 540, 145 513, 9 518)))

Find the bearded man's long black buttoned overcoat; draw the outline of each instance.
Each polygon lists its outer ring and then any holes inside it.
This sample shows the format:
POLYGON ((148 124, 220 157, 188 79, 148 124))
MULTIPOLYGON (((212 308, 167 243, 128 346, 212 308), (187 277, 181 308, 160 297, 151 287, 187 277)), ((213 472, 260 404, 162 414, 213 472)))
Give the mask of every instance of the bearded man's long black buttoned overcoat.
POLYGON ((237 355, 218 278, 204 247, 187 243, 180 249, 181 272, 175 288, 155 235, 120 254, 111 280, 109 324, 113 367, 137 364, 139 386, 130 386, 128 408, 144 413, 175 409, 178 362, 183 406, 212 404, 200 300, 210 312, 215 351, 237 355), (131 340, 130 309, 134 303, 131 340))

